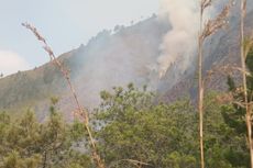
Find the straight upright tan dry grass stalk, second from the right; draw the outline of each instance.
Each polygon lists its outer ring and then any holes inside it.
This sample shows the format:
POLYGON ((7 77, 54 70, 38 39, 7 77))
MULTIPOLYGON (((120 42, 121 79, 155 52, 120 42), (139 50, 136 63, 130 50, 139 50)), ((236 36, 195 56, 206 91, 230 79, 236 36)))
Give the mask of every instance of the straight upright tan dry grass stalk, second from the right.
POLYGON ((202 9, 200 12, 200 32, 198 45, 198 111, 199 111, 199 145, 200 145, 200 165, 205 168, 204 156, 204 83, 202 83, 202 9))

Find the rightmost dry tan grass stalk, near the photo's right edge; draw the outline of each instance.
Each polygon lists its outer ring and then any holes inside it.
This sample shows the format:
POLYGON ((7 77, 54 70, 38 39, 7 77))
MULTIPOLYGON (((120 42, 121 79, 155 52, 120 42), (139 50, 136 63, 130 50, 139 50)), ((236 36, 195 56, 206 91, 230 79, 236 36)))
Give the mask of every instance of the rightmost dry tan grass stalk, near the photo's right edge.
POLYGON ((251 168, 253 168, 253 145, 252 145, 252 124, 251 124, 251 110, 248 101, 248 86, 246 86, 246 65, 245 65, 245 51, 244 51, 244 19, 246 14, 246 0, 241 0, 241 66, 242 66, 242 79, 243 79, 243 94, 245 103, 245 120, 248 127, 249 148, 251 154, 251 168))

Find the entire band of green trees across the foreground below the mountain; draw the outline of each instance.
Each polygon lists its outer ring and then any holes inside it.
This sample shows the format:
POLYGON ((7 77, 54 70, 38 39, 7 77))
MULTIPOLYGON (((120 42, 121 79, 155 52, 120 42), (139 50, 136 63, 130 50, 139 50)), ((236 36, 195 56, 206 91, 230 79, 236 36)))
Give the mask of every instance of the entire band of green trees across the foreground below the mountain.
MULTIPOLYGON (((248 66, 253 74, 253 54, 248 66)), ((242 99, 231 77, 229 92, 242 99)), ((248 78, 249 96, 253 81, 248 78)), ((215 92, 205 98, 205 154, 209 168, 248 168, 245 110, 221 103, 215 92)), ((198 114, 189 100, 157 103, 155 96, 129 85, 102 91, 91 119, 100 156, 114 168, 199 167, 198 114)), ((249 97, 249 99, 251 99, 249 97)), ((54 108, 44 123, 28 111, 19 120, 0 114, 1 168, 94 168, 84 124, 66 123, 54 108)))

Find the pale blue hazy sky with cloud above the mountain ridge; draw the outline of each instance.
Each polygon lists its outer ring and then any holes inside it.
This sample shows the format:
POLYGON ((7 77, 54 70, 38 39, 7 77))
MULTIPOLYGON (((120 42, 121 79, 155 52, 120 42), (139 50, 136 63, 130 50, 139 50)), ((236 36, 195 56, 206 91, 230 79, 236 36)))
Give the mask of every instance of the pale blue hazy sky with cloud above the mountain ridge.
POLYGON ((48 60, 30 22, 56 55, 86 44, 103 29, 129 25, 157 13, 160 0, 0 0, 0 72, 33 68, 48 60))

